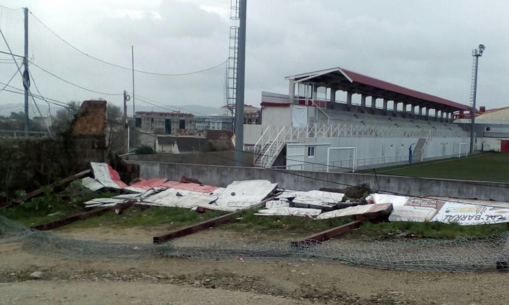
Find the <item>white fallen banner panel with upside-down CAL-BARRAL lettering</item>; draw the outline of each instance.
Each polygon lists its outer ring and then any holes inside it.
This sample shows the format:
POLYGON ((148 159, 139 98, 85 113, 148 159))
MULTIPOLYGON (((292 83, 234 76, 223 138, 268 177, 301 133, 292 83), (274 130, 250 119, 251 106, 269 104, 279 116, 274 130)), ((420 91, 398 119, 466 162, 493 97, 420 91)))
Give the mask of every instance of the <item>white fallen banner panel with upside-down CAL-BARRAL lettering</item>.
POLYGON ((509 208, 446 201, 433 221, 480 225, 509 222, 509 208))

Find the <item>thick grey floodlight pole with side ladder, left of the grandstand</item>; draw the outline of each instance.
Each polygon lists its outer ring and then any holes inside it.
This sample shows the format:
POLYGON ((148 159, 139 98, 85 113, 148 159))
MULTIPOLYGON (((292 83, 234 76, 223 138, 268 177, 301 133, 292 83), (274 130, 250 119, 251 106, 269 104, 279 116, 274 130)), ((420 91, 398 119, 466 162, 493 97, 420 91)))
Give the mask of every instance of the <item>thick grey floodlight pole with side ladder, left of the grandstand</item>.
POLYGON ((247 0, 240 0, 239 54, 237 66, 237 96, 235 100, 235 161, 243 166, 244 153, 244 82, 246 72, 246 12, 247 0))

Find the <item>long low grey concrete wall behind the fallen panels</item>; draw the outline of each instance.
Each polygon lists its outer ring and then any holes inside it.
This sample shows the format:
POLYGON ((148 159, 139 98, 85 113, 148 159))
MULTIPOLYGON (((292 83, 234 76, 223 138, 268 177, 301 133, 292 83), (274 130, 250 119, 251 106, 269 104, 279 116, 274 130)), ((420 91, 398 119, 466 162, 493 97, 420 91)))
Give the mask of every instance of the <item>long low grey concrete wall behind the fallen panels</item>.
POLYGON ((409 178, 352 173, 269 170, 253 167, 190 165, 129 161, 140 166, 140 177, 179 180, 182 175, 199 179, 204 184, 226 187, 234 180, 268 179, 279 187, 293 190, 318 190, 322 187, 343 188, 367 183, 373 189, 404 195, 447 196, 509 201, 509 184, 429 178, 409 178), (334 181, 334 182, 329 182, 334 181))

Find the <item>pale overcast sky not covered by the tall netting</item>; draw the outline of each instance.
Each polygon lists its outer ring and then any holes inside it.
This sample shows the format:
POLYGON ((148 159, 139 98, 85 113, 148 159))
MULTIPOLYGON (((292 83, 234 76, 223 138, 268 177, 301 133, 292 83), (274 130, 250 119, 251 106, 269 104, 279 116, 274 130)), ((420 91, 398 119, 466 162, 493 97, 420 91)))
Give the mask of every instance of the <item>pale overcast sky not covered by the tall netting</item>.
MULTIPOLYGON (((228 57, 230 0, 4 0, 78 49, 122 66, 187 73, 228 57)), ((343 67, 477 106, 509 106, 509 1, 248 0, 246 104, 288 93, 285 76, 343 67)), ((209 106, 221 106, 219 104, 209 106)))

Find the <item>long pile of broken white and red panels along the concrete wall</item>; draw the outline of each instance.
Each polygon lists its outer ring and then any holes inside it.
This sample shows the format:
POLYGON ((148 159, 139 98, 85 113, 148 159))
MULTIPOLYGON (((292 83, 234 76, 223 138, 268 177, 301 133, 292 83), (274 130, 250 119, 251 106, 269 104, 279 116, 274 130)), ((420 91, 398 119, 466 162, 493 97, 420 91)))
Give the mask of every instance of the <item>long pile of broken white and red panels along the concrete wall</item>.
POLYGON ((255 215, 317 220, 438 221, 461 225, 509 222, 509 203, 506 202, 372 193, 365 184, 346 189, 298 191, 278 189, 277 183, 269 180, 242 180, 219 188, 185 176, 180 181, 138 179, 127 186, 109 165, 91 165, 94 178, 82 178, 84 187, 93 191, 122 190, 125 194, 90 200, 85 203, 90 208, 115 206, 135 200, 143 205, 233 212, 265 204, 255 215))

